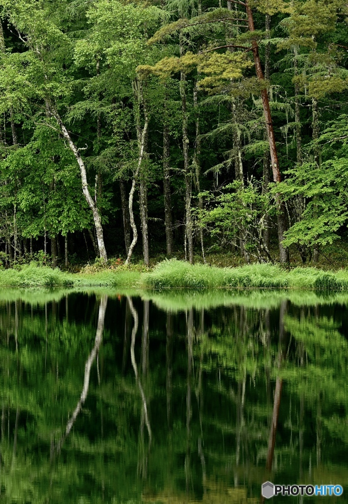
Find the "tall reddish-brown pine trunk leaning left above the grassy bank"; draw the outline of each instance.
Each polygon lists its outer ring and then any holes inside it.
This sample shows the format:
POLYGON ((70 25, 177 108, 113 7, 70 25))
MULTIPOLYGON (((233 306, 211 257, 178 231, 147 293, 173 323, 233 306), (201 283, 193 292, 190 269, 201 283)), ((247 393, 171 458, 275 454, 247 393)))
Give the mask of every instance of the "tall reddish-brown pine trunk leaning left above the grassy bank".
MULTIPOLYGON (((249 6, 248 0, 246 0, 246 13, 247 13, 247 18, 248 18, 249 31, 253 32, 253 31, 255 31, 254 19, 253 19, 252 11, 249 6)), ((264 79, 263 79, 263 73, 262 73, 262 68, 261 68, 261 60, 260 60, 260 55, 258 52, 258 45, 257 45, 256 40, 251 41, 251 46, 252 46, 252 52, 253 52, 253 57, 254 57, 256 76, 259 81, 263 81, 264 79)), ((275 145, 275 137, 274 137, 273 123, 272 123, 272 116, 271 116, 270 108, 269 108, 268 94, 267 94, 267 90, 265 88, 262 88, 262 90, 261 90, 261 98, 262 98, 264 118, 265 118, 265 122, 266 122, 270 160, 271 160, 271 167, 272 167, 272 173, 273 173, 273 181, 280 182, 281 181, 281 172, 279 169, 279 160, 278 160, 278 154, 277 154, 276 145, 275 145)), ((283 245, 284 232, 286 231, 286 228, 287 228, 286 219, 285 219, 285 209, 284 209, 284 204, 282 204, 279 195, 275 196, 275 201, 276 201, 276 206, 277 206, 277 210, 278 210, 278 216, 277 216, 278 226, 277 227, 278 227, 280 261, 281 261, 281 263, 284 264, 284 263, 289 263, 289 250, 288 250, 288 248, 284 247, 284 245, 283 245)))

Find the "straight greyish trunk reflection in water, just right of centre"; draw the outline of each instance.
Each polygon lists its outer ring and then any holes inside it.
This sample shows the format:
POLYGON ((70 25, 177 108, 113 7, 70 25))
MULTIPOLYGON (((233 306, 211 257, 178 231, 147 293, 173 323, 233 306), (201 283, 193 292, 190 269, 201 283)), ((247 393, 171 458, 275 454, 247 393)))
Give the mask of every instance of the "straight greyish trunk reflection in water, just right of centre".
MULTIPOLYGON (((187 316, 186 316, 187 317, 187 316)), ((191 471, 191 374, 192 374, 192 344, 193 344, 193 308, 188 312, 187 322, 187 393, 186 393, 186 457, 185 457, 185 476, 186 476, 186 494, 189 493, 191 471)))

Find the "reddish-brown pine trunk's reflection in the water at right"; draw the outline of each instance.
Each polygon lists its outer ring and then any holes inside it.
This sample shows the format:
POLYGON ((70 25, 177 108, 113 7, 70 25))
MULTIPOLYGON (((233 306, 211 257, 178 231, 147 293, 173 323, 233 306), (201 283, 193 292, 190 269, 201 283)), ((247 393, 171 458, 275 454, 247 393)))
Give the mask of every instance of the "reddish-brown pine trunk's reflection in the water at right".
MULTIPOLYGON (((278 372, 280 371, 280 367, 282 365, 282 361, 284 359, 284 315, 287 309, 287 301, 282 301, 280 314, 279 314, 279 350, 278 350, 278 372)), ((269 431, 268 438, 268 449, 267 449, 267 459, 266 459, 266 469, 270 471, 272 469, 273 456, 274 456, 274 447, 275 447, 275 436, 276 429, 278 424, 279 417, 279 408, 281 405, 281 397, 282 397, 282 388, 283 388, 283 379, 278 375, 275 381, 275 390, 274 390, 274 400, 273 400, 273 414, 272 414, 272 423, 269 431)))

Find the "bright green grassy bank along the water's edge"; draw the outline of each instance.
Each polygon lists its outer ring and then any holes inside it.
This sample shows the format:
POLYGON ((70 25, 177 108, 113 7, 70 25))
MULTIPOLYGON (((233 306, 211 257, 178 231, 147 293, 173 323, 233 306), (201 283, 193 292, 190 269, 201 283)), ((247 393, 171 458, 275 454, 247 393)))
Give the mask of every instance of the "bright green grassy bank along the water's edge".
POLYGON ((348 291, 348 270, 315 268, 285 270, 269 264, 218 268, 183 261, 163 261, 152 271, 106 269, 94 274, 66 273, 34 264, 20 270, 0 270, 0 287, 117 287, 145 289, 264 288, 348 291))

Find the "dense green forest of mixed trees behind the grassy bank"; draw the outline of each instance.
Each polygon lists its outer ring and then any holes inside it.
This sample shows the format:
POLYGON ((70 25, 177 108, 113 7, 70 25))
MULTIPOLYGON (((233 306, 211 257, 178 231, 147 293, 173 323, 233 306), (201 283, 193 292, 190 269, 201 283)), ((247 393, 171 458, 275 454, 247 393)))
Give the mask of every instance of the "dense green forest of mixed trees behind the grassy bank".
POLYGON ((3 268, 347 256, 346 3, 0 6, 3 268))

